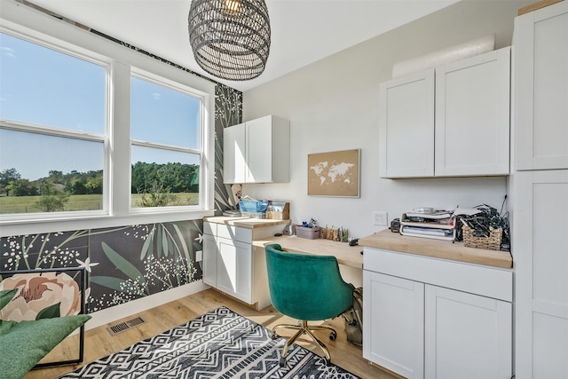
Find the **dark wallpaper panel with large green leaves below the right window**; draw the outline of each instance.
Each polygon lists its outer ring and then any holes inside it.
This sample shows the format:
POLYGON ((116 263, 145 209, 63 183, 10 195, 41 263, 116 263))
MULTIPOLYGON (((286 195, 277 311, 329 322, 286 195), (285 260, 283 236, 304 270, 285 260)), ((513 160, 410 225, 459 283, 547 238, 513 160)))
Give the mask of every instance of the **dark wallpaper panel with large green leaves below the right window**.
POLYGON ((201 220, 134 225, 91 238, 89 312, 201 279, 194 264, 201 248, 201 220))

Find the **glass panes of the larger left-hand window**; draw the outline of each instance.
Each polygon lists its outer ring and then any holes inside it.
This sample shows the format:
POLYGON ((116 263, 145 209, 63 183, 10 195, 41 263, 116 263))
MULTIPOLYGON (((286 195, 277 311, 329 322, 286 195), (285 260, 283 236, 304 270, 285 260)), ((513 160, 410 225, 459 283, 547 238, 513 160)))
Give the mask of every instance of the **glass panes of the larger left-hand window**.
POLYGON ((0 34, 0 214, 105 210, 106 65, 0 34))

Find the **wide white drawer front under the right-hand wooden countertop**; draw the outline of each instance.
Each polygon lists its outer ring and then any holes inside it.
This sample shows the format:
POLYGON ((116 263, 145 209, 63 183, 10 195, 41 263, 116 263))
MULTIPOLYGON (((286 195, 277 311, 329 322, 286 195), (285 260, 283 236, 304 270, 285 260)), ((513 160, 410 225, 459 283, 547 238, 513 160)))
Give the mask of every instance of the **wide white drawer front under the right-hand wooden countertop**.
POLYGON ((365 248, 363 268, 506 302, 513 301, 511 270, 372 248, 365 248))

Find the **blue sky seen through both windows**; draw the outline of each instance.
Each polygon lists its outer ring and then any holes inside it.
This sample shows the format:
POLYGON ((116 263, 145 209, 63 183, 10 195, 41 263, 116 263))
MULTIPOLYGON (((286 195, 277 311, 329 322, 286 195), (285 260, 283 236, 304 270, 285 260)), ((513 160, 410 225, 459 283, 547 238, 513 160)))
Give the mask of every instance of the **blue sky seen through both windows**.
MULTIPOLYGON (((200 99, 132 78, 131 138, 200 149, 200 99)), ((0 33, 0 119, 106 133, 106 67, 0 33)), ((130 128, 130 125, 116 125, 130 128)), ((199 155, 133 149, 134 162, 199 164, 199 155)), ((102 143, 0 130, 0 170, 36 180, 50 170, 103 169, 102 143)))

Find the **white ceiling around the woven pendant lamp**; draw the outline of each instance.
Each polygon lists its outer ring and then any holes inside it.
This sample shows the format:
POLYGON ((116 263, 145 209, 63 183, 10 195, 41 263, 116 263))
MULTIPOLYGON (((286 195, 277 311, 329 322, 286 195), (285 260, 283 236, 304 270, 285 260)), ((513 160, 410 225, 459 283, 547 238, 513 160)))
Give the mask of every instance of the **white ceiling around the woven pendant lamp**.
MULTIPOLYGON (((194 72, 187 32, 191 0, 28 0, 60 16, 149 51, 194 72)), ((436 12, 458 0, 265 0, 272 42, 264 73, 247 91, 337 51, 436 12)))

